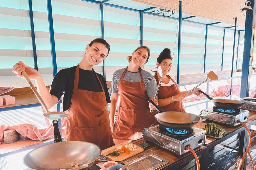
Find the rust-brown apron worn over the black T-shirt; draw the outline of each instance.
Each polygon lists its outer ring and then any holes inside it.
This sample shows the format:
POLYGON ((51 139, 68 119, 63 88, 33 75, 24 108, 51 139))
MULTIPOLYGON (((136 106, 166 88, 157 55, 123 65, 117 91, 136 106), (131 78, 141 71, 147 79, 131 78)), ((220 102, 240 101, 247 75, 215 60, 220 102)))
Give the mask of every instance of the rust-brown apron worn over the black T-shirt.
MULTIPOLYGON (((97 74, 96 76, 100 82, 97 74)), ((101 82, 102 92, 93 92, 78 89, 78 81, 79 64, 76 67, 73 95, 68 109, 70 116, 66 120, 65 140, 91 142, 102 150, 113 146, 107 101, 101 82)))

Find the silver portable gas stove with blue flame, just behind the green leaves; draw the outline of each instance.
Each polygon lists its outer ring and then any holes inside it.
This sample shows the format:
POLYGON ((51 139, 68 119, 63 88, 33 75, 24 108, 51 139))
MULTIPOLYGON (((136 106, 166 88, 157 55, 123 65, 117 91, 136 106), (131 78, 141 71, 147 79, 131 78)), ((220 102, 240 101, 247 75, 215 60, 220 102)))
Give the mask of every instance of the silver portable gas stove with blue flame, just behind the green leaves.
POLYGON ((214 106, 212 108, 202 110, 199 116, 213 122, 237 126, 240 124, 237 123, 238 120, 240 122, 248 120, 249 111, 242 109, 222 109, 214 106))

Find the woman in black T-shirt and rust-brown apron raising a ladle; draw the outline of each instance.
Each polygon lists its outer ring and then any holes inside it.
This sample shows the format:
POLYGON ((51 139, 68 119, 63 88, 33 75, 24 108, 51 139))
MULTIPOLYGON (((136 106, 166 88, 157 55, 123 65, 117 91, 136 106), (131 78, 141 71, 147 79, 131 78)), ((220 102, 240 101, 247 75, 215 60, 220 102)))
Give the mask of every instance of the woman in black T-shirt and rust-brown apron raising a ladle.
POLYGON ((62 111, 70 115, 66 119, 65 140, 91 142, 102 150, 114 145, 106 107, 110 98, 105 78, 92 67, 101 63, 109 50, 109 44, 103 39, 90 42, 77 66, 62 69, 55 75, 50 92, 34 68, 21 61, 13 66, 13 72, 19 77, 26 70, 29 78, 36 81, 37 90, 48 108, 52 108, 64 93, 62 111))

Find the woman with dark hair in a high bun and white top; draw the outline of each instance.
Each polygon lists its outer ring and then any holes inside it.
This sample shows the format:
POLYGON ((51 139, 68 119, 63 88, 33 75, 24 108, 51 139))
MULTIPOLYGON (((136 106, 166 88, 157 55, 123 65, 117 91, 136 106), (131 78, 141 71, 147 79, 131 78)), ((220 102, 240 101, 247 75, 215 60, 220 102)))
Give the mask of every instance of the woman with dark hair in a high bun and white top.
MULTIPOLYGON (((165 48, 157 57, 156 61, 157 67, 161 66, 163 72, 162 82, 157 95, 159 106, 164 111, 186 112, 182 100, 186 96, 190 96, 192 94, 199 96, 200 92, 198 90, 201 89, 195 89, 191 93, 189 93, 189 91, 180 92, 180 89, 175 81, 174 76, 168 75, 168 73, 172 69, 172 57, 169 48, 165 48)), ((160 80, 158 72, 155 72, 154 78, 156 84, 158 85, 160 80)))

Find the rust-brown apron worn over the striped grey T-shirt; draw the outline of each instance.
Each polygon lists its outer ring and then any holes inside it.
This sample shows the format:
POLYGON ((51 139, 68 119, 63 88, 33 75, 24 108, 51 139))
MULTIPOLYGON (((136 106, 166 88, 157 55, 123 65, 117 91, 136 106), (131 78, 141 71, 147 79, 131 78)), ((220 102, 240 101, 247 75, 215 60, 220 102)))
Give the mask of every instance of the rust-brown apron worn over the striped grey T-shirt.
POLYGON ((112 136, 114 139, 136 140, 141 138, 136 135, 137 132, 142 132, 144 128, 157 124, 154 117, 156 112, 150 114, 148 95, 141 70, 139 70, 141 82, 135 83, 123 80, 126 71, 127 68, 118 84, 120 105, 112 136))

